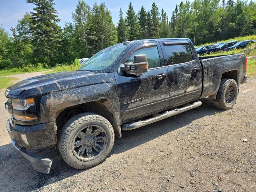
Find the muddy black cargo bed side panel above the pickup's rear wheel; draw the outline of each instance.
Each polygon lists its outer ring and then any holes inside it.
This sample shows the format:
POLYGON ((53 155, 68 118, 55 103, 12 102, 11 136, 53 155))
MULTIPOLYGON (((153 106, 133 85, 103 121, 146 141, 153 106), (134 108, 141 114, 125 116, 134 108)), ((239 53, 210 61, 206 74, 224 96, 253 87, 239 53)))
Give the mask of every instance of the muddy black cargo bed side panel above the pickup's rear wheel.
POLYGON ((221 79, 228 78, 234 73, 238 77, 239 88, 246 73, 245 59, 244 54, 199 57, 203 72, 203 90, 200 98, 215 95, 221 79), (225 73, 223 74, 223 72, 225 73))

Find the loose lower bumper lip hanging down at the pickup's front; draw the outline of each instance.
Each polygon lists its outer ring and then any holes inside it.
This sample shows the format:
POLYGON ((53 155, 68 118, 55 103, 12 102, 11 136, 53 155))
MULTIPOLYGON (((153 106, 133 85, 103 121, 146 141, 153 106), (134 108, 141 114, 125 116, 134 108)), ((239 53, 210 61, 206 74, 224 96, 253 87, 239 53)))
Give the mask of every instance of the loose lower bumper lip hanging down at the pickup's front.
POLYGON ((21 147, 17 142, 12 140, 13 146, 31 163, 34 170, 42 172, 42 173, 49 173, 50 168, 52 166, 52 160, 48 158, 42 158, 39 156, 35 156, 32 154, 28 154, 26 149, 21 147))

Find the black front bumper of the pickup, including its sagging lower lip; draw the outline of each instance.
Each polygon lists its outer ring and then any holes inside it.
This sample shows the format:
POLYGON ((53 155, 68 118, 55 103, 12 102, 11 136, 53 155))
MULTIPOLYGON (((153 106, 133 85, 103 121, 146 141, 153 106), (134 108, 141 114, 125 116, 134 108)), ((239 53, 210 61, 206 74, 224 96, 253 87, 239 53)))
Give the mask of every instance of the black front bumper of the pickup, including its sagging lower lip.
POLYGON ((39 149, 56 144, 55 123, 22 126, 16 124, 16 120, 10 116, 6 128, 13 146, 31 163, 32 167, 39 172, 49 173, 52 160, 28 154, 26 148, 39 149))

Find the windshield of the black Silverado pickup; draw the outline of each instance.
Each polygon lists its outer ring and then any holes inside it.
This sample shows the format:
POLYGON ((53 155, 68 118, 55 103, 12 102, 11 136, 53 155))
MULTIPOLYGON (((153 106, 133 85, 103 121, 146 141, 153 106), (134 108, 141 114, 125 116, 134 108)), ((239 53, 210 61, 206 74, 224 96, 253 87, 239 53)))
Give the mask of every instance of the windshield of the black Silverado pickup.
POLYGON ((83 64, 78 71, 88 70, 104 70, 108 68, 120 55, 120 53, 126 49, 127 46, 119 46, 110 50, 102 50, 92 56, 85 64, 83 64))

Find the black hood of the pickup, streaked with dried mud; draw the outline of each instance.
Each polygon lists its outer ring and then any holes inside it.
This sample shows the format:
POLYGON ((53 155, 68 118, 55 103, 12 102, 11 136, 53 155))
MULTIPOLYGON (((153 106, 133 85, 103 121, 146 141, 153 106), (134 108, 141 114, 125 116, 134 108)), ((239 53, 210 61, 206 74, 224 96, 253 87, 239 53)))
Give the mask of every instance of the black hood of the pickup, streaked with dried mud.
POLYGON ((41 75, 22 80, 7 89, 10 95, 20 94, 47 94, 90 84, 108 82, 104 74, 95 74, 90 71, 68 71, 41 75))

